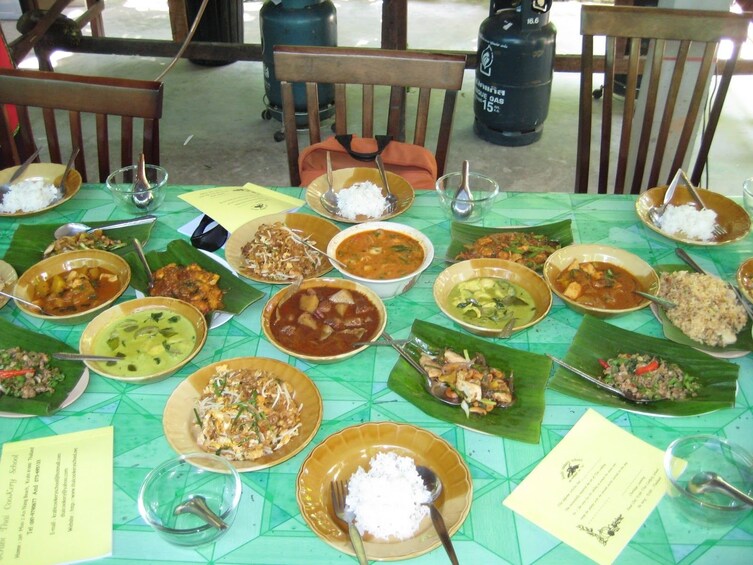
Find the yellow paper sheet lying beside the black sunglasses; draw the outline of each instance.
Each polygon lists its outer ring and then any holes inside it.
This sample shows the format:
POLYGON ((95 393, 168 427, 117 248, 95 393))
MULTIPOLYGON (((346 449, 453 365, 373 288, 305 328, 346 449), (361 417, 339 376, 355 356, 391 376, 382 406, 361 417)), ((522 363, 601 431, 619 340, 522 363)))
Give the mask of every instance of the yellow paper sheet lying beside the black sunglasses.
POLYGON ((204 212, 230 233, 246 222, 303 206, 303 200, 255 184, 194 190, 179 198, 204 212))

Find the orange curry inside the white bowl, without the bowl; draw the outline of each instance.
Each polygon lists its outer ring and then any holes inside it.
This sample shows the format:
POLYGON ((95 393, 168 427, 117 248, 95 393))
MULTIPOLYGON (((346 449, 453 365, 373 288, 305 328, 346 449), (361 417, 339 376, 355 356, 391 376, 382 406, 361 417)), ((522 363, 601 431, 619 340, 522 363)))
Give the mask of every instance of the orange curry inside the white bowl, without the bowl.
POLYGON ((424 248, 404 233, 376 229, 344 239, 337 246, 335 259, 358 277, 399 279, 418 270, 424 260, 424 248))

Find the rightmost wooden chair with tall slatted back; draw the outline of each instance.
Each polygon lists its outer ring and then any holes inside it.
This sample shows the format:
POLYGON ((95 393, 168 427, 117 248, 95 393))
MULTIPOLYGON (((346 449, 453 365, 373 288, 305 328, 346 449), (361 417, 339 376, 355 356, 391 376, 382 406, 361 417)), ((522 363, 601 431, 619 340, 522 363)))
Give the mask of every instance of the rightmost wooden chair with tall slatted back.
POLYGON ((664 179, 668 183, 677 169, 683 167, 704 110, 706 93, 709 92, 710 111, 690 175, 696 185, 701 180, 740 46, 747 37, 749 22, 750 14, 583 5, 576 192, 588 192, 589 186, 594 36, 606 38, 598 192, 608 192, 613 123, 615 130, 619 129, 617 121, 620 116, 613 115, 617 71, 627 74, 627 83, 612 186, 616 193, 625 192, 628 188, 636 194, 664 184, 664 179), (713 82, 709 84, 709 75, 715 69, 714 59, 722 39, 732 41, 732 54, 726 62, 719 62, 722 71, 718 84, 714 86, 713 82), (643 61, 640 60, 642 40, 649 41, 648 56, 645 58, 648 74, 643 72, 643 61), (621 49, 619 45, 628 47, 621 49), (623 58, 624 51, 627 53, 623 58), (694 68, 697 68, 697 72, 689 70, 694 68), (638 123, 640 113, 636 113, 636 93, 641 72, 638 98, 645 97, 645 108, 643 119, 638 123), (676 102, 678 93, 682 95, 681 82, 683 86, 692 86, 692 92, 687 107, 679 108, 680 104, 676 102), (668 146, 670 128, 680 132, 676 147, 668 146), (653 154, 649 151, 651 147, 654 148, 653 154), (630 178, 632 181, 629 181, 630 178))

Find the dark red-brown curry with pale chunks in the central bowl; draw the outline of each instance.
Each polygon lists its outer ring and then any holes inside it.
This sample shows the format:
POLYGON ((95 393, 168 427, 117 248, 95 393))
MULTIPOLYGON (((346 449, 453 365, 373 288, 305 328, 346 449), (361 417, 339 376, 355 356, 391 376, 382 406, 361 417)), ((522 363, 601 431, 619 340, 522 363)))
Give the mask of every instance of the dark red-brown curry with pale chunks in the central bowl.
POLYGON ((272 313, 270 329, 286 349, 327 357, 353 350, 356 341, 374 337, 379 311, 356 290, 314 287, 283 299, 272 313))

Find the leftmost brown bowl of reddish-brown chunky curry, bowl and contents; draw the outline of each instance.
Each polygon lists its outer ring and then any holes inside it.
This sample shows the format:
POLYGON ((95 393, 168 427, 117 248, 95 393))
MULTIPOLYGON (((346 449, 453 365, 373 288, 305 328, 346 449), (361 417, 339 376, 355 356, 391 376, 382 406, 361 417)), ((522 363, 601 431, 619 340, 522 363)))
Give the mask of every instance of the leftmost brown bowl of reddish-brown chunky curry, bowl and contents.
POLYGON ((16 282, 14 296, 39 304, 42 310, 16 300, 34 318, 57 324, 81 324, 108 308, 128 288, 131 268, 119 255, 83 249, 53 255, 29 267, 16 282))

